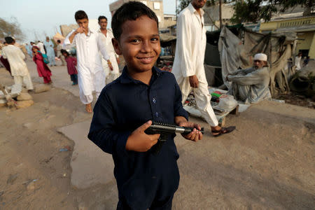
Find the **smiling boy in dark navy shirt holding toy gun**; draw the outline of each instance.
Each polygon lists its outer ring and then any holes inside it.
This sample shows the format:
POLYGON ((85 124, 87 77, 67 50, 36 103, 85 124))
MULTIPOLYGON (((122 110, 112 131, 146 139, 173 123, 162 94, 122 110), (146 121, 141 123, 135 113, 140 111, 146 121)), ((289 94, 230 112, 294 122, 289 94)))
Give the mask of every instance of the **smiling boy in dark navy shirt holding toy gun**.
POLYGON ((153 153, 160 134, 147 134, 152 133, 148 128, 152 121, 174 123, 180 130, 190 127, 192 132, 183 137, 192 141, 202 139, 201 128, 187 121, 173 74, 153 66, 161 50, 155 13, 130 1, 113 15, 111 27, 113 46, 127 66, 102 90, 88 138, 113 155, 117 209, 172 209, 179 186, 175 134, 153 153))

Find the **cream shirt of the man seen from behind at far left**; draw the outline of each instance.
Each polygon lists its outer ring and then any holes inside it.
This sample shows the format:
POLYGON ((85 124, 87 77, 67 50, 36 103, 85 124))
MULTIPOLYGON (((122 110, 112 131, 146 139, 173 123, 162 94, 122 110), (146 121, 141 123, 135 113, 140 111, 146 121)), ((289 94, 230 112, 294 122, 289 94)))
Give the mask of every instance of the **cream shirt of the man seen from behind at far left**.
POLYGON ((25 55, 15 45, 7 45, 2 48, 3 58, 8 59, 12 76, 27 76, 29 70, 25 63, 25 55))

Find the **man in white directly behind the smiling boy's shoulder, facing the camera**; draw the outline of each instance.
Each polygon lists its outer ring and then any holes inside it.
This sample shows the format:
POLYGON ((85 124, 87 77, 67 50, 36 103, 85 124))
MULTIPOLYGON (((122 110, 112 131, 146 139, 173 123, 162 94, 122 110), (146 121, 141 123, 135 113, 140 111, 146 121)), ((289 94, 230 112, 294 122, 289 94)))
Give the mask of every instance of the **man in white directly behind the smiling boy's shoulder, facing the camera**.
POLYGON ((101 38, 104 43, 106 51, 110 57, 109 60, 113 66, 113 70, 111 71, 108 62, 102 59, 102 65, 106 74, 106 84, 108 84, 120 76, 118 67, 119 56, 116 54, 113 48, 113 43, 111 42, 111 39, 113 38, 113 31, 111 31, 111 29, 106 29, 107 18, 105 16, 99 16, 99 27, 100 29, 97 31, 99 33, 99 38, 101 38))

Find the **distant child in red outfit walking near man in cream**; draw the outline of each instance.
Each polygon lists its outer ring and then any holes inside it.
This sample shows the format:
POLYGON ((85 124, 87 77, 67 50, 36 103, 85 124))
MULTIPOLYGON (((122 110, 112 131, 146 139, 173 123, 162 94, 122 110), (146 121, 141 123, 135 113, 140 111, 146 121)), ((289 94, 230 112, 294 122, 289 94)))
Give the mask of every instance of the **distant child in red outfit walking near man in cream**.
POLYGON ((37 66, 38 76, 43 77, 45 84, 52 83, 50 78, 50 76, 52 75, 51 71, 48 68, 47 64, 45 64, 45 62, 43 61, 43 55, 41 54, 41 51, 37 46, 33 46, 31 50, 33 51, 33 60, 37 66))

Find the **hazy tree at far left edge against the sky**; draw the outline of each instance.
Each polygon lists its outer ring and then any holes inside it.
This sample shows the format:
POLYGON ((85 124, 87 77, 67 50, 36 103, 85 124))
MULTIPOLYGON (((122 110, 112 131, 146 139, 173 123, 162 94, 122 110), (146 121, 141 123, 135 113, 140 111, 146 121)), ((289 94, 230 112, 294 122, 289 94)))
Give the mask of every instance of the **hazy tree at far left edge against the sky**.
POLYGON ((20 24, 15 17, 12 17, 10 22, 0 18, 0 38, 6 36, 13 36, 16 40, 22 40, 24 38, 24 34, 22 34, 22 30, 20 29, 20 24))

